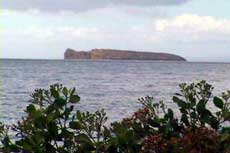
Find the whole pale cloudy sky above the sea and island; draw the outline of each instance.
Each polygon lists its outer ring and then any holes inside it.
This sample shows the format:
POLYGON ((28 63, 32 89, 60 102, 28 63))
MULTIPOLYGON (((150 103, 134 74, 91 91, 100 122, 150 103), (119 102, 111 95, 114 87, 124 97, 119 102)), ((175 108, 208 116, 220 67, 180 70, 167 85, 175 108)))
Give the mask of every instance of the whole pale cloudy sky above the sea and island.
POLYGON ((0 58, 63 59, 67 48, 230 62, 230 0, 0 0, 0 58))

